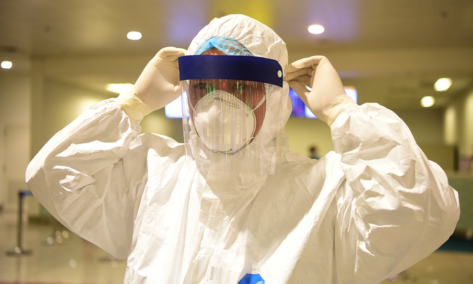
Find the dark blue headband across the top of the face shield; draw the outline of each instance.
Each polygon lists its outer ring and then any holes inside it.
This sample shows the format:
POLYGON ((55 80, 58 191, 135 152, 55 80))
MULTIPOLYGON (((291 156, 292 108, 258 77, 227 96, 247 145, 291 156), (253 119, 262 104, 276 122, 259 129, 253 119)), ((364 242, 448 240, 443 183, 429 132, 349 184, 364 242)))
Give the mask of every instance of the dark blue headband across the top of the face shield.
POLYGON ((189 55, 179 57, 179 79, 256 81, 282 87, 278 61, 256 56, 189 55))

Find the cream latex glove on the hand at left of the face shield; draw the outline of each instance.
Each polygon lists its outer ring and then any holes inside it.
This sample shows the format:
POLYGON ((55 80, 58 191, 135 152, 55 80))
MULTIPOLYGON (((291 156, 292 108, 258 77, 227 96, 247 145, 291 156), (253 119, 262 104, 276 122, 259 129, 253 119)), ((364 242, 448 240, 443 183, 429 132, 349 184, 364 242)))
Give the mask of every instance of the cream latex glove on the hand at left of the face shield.
POLYGON ((186 49, 164 47, 147 63, 130 90, 121 93, 117 102, 134 120, 142 120, 148 113, 161 109, 181 95, 177 58, 186 49))

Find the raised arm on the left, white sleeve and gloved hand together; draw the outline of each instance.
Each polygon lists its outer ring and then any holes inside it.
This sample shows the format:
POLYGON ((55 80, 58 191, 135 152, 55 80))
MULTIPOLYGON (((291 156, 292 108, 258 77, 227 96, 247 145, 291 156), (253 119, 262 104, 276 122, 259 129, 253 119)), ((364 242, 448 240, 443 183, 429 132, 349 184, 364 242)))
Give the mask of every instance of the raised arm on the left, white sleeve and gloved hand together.
POLYGON ((29 188, 58 221, 117 258, 129 252, 147 180, 139 121, 179 97, 177 58, 184 54, 161 49, 130 90, 86 110, 26 169, 29 188))

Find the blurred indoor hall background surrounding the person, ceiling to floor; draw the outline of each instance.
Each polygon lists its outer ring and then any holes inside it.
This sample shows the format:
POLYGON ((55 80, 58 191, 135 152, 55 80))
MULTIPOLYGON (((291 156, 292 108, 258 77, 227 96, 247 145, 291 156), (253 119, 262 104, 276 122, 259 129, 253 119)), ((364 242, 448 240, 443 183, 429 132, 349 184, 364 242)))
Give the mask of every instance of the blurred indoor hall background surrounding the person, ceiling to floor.
MULTIPOLYGON (((27 194, 26 165, 87 107, 134 84, 159 49, 187 48, 211 19, 232 13, 270 26, 289 62, 327 56, 358 104, 396 112, 458 190, 454 245, 387 281, 473 283, 472 0, 0 0, 0 283, 122 282, 124 261, 63 230, 27 194), (31 254, 6 253, 26 246, 31 254)), ((182 120, 164 109, 141 125, 183 141, 182 120)), ((333 150, 316 118, 294 113, 286 132, 303 155, 333 150)))

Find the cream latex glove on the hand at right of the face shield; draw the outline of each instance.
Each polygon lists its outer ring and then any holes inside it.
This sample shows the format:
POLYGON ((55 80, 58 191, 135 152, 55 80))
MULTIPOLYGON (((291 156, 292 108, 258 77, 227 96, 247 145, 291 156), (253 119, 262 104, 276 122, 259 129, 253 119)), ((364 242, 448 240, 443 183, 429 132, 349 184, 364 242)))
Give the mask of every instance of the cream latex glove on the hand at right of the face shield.
POLYGON ((310 111, 329 126, 340 113, 357 105, 346 95, 342 80, 325 56, 300 59, 287 65, 285 72, 284 81, 288 81, 310 111))

